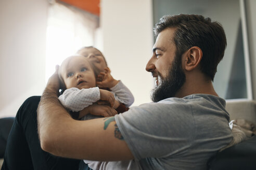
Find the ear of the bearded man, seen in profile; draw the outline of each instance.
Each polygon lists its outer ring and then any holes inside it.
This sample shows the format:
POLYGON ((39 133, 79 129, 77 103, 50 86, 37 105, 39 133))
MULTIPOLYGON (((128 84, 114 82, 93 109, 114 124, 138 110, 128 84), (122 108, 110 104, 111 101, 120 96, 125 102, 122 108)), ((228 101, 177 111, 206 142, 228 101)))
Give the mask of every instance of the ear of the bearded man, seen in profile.
POLYGON ((185 52, 185 63, 184 68, 187 71, 191 71, 195 69, 197 66, 199 66, 199 63, 202 59, 202 50, 197 47, 191 47, 185 52))

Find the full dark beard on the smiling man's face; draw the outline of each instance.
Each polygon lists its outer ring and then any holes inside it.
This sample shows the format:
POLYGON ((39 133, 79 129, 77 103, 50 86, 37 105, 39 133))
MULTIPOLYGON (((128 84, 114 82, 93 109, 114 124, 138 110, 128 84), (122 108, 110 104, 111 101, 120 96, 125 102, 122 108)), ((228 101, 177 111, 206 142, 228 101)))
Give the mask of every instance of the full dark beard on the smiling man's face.
POLYGON ((151 100, 159 102, 165 98, 174 97, 186 81, 186 76, 181 68, 181 55, 176 55, 169 69, 167 77, 163 77, 159 72, 152 73, 161 78, 160 84, 152 89, 151 100))

